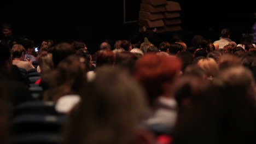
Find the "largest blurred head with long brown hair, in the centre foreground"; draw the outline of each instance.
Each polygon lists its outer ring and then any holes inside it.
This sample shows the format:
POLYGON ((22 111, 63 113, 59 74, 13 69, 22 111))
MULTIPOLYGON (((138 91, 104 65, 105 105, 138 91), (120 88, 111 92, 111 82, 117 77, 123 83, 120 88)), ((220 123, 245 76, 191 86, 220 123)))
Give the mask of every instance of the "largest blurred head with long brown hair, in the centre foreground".
POLYGON ((129 144, 146 109, 142 88, 124 71, 96 69, 65 125, 65 144, 129 144))

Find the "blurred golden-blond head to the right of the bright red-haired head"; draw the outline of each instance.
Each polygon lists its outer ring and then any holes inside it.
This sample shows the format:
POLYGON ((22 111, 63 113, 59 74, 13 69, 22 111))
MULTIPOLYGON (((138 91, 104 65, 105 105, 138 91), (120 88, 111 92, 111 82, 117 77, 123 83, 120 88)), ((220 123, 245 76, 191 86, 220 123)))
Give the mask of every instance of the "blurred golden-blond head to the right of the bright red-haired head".
POLYGON ((205 70, 208 77, 214 77, 219 72, 218 64, 213 58, 200 59, 200 61, 197 62, 197 65, 205 70))

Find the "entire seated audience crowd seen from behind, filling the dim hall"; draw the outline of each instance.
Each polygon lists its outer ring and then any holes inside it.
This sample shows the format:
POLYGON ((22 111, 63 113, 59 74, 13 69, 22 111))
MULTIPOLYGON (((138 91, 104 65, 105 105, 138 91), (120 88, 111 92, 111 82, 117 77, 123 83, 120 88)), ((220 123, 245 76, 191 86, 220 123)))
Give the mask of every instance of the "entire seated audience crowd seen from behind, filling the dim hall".
POLYGON ((2 26, 0 142, 171 144, 256 142, 256 46, 144 29, 107 40, 55 44, 2 26), (176 38, 174 41, 172 38, 176 38))

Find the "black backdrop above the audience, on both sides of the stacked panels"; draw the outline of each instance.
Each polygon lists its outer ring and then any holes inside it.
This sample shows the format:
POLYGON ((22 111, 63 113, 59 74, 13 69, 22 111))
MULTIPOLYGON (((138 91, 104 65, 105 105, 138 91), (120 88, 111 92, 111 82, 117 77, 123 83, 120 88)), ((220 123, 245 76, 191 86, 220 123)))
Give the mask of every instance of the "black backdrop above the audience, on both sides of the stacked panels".
MULTIPOLYGON (((221 28, 231 29, 231 39, 239 43, 240 34, 254 23, 253 3, 218 1, 178 1, 181 4, 183 40, 190 43, 194 34, 213 41, 221 28)), ((139 0, 126 0, 126 21, 137 20, 139 0)), ((138 31, 137 23, 124 23, 123 1, 4 1, 1 23, 10 23, 13 33, 24 35, 39 45, 42 40, 83 40, 96 51, 104 39, 126 39, 138 31)), ((165 40, 173 33, 160 34, 165 40)))

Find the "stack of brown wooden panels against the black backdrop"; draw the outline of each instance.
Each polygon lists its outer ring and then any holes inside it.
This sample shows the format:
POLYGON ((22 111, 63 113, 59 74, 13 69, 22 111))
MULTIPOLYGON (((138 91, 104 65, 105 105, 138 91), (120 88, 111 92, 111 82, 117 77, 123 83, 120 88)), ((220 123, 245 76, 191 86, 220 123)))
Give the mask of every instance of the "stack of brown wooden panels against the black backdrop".
POLYGON ((157 28, 158 32, 180 31, 179 3, 166 0, 142 0, 138 23, 140 26, 157 28))

